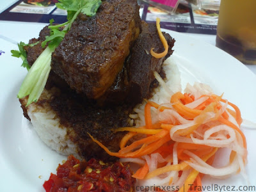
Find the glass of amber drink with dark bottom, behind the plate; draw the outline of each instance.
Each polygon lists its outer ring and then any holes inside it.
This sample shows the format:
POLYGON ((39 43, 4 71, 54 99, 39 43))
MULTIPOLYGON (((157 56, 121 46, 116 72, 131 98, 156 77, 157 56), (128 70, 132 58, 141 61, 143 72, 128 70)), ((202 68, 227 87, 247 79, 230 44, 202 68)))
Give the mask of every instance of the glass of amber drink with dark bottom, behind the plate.
POLYGON ((216 46, 256 65, 256 0, 222 0, 216 46))

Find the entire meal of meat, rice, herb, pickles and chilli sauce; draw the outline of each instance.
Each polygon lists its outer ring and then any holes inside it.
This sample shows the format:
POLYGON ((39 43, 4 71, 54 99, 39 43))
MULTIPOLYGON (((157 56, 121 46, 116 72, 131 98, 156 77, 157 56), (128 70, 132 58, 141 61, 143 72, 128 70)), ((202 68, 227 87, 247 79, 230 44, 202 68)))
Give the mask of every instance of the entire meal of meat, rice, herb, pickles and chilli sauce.
POLYGON ((246 177, 239 109, 204 84, 181 93, 179 70, 169 60, 175 40, 161 32, 160 20, 141 22, 136 0, 88 2, 74 8, 62 0, 68 21, 51 20, 38 38, 12 51, 29 70, 18 94, 24 116, 50 148, 88 160, 69 156, 45 190, 154 185, 188 191, 204 174, 246 177), (221 148, 230 150, 228 166, 214 168, 221 148), (117 158, 139 168, 132 173, 126 165, 102 163, 117 158), (91 166, 99 170, 87 174, 91 166), (115 180, 120 170, 125 175, 115 180))

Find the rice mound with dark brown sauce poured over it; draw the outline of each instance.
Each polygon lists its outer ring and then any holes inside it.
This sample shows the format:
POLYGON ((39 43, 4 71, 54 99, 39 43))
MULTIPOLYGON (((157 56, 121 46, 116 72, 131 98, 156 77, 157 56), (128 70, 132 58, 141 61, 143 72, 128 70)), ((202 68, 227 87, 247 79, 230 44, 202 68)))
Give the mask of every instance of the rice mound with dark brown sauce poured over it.
MULTIPOLYGON (((167 83, 179 86, 178 68, 170 65, 170 61, 166 61, 163 70, 170 78, 167 83), (170 77, 175 73, 177 80, 170 77)), ((87 159, 91 157, 108 159, 108 154, 90 139, 87 134, 90 132, 111 150, 119 149, 118 143, 125 133, 116 134, 112 129, 133 125, 129 118, 133 105, 122 104, 102 108, 97 102, 86 99, 83 95, 77 95, 69 88, 51 87, 51 82, 48 83, 50 88, 48 90, 45 88, 38 102, 26 107, 27 98, 20 99, 24 115, 30 118, 44 143, 61 154, 79 154, 87 159)), ((158 90, 156 92, 154 92, 155 97, 158 95, 158 90)))

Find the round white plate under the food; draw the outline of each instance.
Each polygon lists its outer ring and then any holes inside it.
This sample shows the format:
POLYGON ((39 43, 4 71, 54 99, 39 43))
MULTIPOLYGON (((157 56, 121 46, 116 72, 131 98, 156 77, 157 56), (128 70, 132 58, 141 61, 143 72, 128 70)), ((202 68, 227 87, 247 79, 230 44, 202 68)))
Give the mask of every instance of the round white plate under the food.
MULTIPOLYGON (((182 85, 193 81, 207 83, 214 92, 224 92, 226 99, 237 104, 243 118, 255 120, 256 76, 220 49, 180 33, 168 32, 176 40, 172 58, 179 65, 182 85)), ((38 31, 34 35, 38 36, 38 31)), ((46 147, 22 115, 16 95, 26 69, 19 67, 20 63, 10 53, 8 60, 1 62, 0 191, 44 191, 44 180, 49 179, 51 172, 56 172, 58 163, 66 157, 46 147)), ((253 148, 256 144, 256 132, 246 129, 243 131, 248 141, 246 171, 251 184, 256 185, 256 155, 253 148)), ((241 175, 234 175, 227 180, 206 177, 203 184, 244 186, 246 182, 241 175)))

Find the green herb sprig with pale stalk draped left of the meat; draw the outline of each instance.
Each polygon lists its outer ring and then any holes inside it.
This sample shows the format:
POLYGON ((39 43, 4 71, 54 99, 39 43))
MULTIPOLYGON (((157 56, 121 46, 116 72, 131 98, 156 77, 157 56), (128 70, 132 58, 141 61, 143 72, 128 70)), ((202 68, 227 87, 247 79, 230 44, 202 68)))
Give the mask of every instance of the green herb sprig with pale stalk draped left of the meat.
POLYGON ((56 6, 62 10, 67 10, 67 22, 59 25, 52 25, 53 19, 50 20, 51 33, 49 36, 45 36, 45 41, 42 42, 42 47, 47 47, 33 63, 32 67, 28 65, 27 54, 24 50, 23 42, 18 44, 19 51, 12 50, 12 56, 21 58, 23 63, 22 67, 28 69, 28 74, 25 77, 17 97, 19 99, 24 98, 29 95, 27 105, 32 102, 37 102, 41 93, 44 90, 45 84, 47 82, 49 72, 51 71, 51 55, 52 52, 60 45, 65 34, 69 31, 74 20, 76 20, 79 13, 86 14, 90 17, 96 14, 100 4, 100 0, 59 0, 56 6), (63 30, 60 28, 65 26, 63 30), (30 68, 30 69, 29 69, 30 68))

